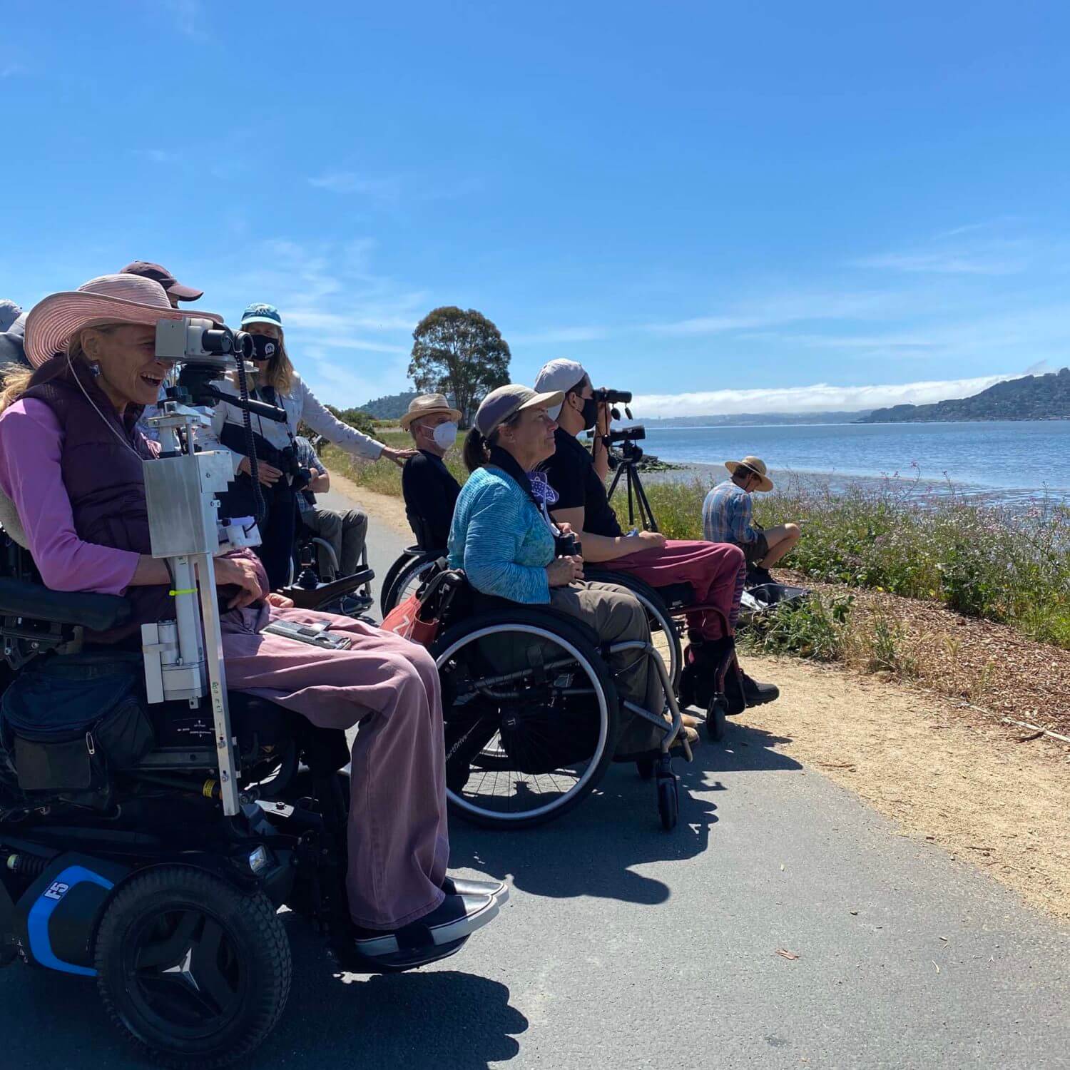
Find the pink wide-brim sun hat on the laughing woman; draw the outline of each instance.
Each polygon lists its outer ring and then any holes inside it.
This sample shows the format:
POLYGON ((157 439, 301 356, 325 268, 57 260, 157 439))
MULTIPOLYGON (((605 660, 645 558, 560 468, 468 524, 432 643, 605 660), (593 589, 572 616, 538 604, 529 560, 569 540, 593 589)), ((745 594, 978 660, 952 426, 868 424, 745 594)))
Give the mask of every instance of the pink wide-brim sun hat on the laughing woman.
POLYGON ((40 368, 49 357, 66 351, 71 338, 98 323, 139 323, 157 320, 211 320, 223 317, 171 308, 164 288, 140 275, 101 275, 77 290, 50 293, 39 301, 26 318, 26 358, 40 368))

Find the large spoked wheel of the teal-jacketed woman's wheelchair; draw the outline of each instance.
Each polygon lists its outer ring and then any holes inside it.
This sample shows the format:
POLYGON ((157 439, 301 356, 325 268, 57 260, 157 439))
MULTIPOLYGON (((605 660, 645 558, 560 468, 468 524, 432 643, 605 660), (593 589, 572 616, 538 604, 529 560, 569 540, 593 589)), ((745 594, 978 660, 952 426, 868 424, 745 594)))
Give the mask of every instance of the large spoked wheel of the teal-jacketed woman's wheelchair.
POLYGON ((431 653, 452 812, 487 828, 530 828, 593 791, 612 761, 617 698, 582 628, 518 608, 458 625, 431 653))

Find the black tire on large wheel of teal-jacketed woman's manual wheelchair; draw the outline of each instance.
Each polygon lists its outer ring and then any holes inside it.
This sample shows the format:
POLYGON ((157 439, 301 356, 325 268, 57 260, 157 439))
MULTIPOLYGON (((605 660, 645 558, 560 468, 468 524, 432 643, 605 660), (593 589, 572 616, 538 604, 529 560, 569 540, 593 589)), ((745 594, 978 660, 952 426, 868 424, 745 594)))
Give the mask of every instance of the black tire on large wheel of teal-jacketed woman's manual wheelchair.
MULTIPOLYGON (((473 806, 468 800, 460 798, 448 788, 446 789, 446 805, 450 813, 469 824, 499 830, 534 828, 549 821, 555 821, 578 806, 594 791, 612 763, 620 724, 616 687, 613 684, 609 667, 602 660, 594 642, 592 642, 593 637, 588 633, 587 629, 563 613, 556 613, 553 610, 542 610, 540 612, 539 610, 518 606, 508 612, 479 614, 448 629, 433 643, 430 653, 441 673, 443 663, 459 648, 462 640, 476 635, 507 631, 510 628, 515 628, 518 631, 528 631, 531 635, 541 633, 544 638, 548 637, 554 642, 564 641, 575 649, 579 658, 590 667, 591 673, 602 691, 605 698, 602 704, 605 731, 602 733, 601 750, 597 754, 592 755, 592 762, 584 775, 583 782, 554 805, 532 814, 525 816, 516 814, 506 815, 495 811, 483 810, 473 806)), ((444 710, 444 713, 448 715, 448 710, 444 710)))

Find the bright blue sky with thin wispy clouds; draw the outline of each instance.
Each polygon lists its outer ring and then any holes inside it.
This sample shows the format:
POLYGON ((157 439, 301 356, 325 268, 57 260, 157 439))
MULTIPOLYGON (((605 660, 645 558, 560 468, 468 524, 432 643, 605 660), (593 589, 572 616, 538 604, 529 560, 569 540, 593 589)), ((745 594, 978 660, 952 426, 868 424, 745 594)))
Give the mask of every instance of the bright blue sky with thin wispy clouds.
POLYGON ((637 414, 1070 364, 1070 9, 9 0, 0 296, 156 260, 325 401, 430 308, 637 414))

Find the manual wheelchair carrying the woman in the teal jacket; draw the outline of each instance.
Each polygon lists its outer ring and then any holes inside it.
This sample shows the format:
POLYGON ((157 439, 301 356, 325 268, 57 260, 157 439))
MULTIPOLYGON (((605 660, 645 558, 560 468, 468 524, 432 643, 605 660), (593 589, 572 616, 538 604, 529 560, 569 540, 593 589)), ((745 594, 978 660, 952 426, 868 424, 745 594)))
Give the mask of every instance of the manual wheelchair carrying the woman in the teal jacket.
POLYGON ((627 760, 640 761, 644 777, 655 779, 661 825, 674 828, 677 739, 688 761, 691 754, 653 644, 608 645, 552 607, 476 592, 462 570, 441 560, 431 571, 410 635, 427 644, 439 667, 450 811, 494 829, 530 828, 564 815, 598 785, 617 754, 624 720, 633 717, 659 742, 627 760), (651 658, 669 719, 618 697, 608 658, 629 651, 651 658))

